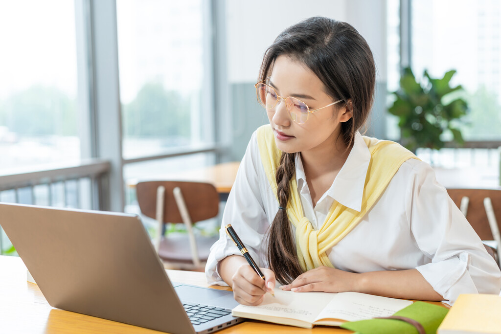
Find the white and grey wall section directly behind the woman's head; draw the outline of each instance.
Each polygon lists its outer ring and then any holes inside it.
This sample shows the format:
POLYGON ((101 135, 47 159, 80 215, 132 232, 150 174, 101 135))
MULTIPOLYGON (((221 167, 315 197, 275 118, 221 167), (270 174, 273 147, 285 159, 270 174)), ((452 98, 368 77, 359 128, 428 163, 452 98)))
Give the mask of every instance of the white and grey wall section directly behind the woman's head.
POLYGON ((220 89, 218 136, 228 159, 241 159, 250 135, 268 122, 253 87, 266 49, 287 27, 312 16, 348 22, 367 40, 376 60, 376 103, 367 134, 385 138, 386 0, 221 0, 225 71, 220 89), (227 90, 224 87, 227 86, 227 90), (228 97, 230 97, 228 99, 228 97))

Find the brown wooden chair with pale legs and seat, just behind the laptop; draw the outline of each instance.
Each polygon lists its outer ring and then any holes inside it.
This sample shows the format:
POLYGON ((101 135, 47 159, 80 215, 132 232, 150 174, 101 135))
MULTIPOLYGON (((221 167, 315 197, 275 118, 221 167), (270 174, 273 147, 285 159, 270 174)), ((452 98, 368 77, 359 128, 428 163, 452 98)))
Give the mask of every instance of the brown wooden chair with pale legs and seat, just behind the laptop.
POLYGON ((167 268, 202 269, 209 248, 219 238, 197 235, 195 222, 217 216, 219 194, 210 183, 182 181, 145 181, 136 185, 141 213, 157 221, 154 246, 167 268), (167 233, 164 224, 183 223, 186 233, 167 233))

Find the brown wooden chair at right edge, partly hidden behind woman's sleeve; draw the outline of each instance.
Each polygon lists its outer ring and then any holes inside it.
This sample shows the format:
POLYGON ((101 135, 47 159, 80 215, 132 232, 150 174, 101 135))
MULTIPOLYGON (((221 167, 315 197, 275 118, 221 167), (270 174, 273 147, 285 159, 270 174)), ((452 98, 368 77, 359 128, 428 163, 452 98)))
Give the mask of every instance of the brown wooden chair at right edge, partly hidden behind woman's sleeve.
POLYGON ((494 240, 495 249, 485 244, 487 252, 500 265, 501 260, 501 190, 447 189, 450 198, 465 215, 482 240, 494 240), (490 249, 489 249, 490 248, 490 249))

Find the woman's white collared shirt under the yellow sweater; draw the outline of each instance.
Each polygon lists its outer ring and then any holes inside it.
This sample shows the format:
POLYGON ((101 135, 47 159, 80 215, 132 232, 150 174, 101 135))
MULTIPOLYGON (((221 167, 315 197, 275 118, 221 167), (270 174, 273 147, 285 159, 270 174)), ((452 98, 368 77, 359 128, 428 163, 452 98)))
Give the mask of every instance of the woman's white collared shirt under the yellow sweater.
MULTIPOLYGON (((360 211, 369 161, 369 149, 357 133, 348 159, 313 207, 301 157, 296 155, 298 191, 304 215, 314 229, 322 226, 335 200, 360 211)), ((278 207, 255 132, 229 193, 219 240, 207 260, 209 284, 226 285, 217 272, 217 262, 241 255, 224 232, 226 224, 233 226, 258 265, 269 267, 263 240, 278 207)), ((501 289, 497 264, 446 189, 437 183, 432 168, 416 159, 400 166, 372 209, 328 256, 334 267, 350 272, 416 268, 447 302, 460 293, 499 294, 501 289)))

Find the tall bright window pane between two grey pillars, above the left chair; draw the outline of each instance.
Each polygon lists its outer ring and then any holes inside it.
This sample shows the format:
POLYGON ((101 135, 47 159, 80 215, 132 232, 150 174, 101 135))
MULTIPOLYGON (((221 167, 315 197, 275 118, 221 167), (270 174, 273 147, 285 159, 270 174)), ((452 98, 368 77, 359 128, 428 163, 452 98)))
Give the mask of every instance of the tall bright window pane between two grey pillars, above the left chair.
POLYGON ((203 8, 201 0, 117 2, 125 158, 212 141, 203 8))

